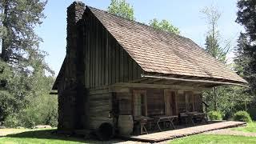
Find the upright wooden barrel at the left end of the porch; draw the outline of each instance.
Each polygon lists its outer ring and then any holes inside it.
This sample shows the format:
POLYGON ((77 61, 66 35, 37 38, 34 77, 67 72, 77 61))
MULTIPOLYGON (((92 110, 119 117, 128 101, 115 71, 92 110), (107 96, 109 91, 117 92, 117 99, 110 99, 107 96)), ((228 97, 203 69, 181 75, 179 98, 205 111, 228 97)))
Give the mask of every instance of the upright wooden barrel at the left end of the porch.
POLYGON ((118 116, 118 131, 120 135, 130 135, 134 130, 134 121, 132 115, 118 116))

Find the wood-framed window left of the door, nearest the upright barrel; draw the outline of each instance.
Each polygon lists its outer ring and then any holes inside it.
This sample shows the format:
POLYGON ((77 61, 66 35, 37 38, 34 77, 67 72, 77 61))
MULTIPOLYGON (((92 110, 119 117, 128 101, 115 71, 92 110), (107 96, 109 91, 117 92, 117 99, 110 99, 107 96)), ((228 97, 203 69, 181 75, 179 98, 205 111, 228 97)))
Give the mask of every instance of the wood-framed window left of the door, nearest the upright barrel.
POLYGON ((145 90, 134 90, 134 116, 147 116, 145 90))

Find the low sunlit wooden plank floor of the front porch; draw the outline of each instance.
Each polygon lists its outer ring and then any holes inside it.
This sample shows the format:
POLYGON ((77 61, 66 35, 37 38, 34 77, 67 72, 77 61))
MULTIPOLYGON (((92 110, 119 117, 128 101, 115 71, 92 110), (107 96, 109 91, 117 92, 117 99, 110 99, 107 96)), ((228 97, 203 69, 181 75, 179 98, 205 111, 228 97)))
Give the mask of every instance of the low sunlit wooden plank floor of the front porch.
POLYGON ((244 126, 246 122, 214 122, 211 124, 192 126, 187 128, 182 128, 178 130, 167 130, 162 132, 156 132, 152 134, 143 134, 138 136, 123 137, 126 140, 139 141, 139 142, 162 142, 174 138, 186 137, 192 134, 200 134, 210 130, 225 129, 230 127, 244 126))

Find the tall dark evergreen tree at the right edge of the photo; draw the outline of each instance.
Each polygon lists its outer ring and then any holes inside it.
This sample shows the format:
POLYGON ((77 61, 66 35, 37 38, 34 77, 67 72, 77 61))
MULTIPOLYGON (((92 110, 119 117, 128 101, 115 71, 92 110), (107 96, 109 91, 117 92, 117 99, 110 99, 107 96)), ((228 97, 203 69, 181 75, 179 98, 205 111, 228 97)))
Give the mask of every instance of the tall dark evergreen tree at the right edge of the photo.
POLYGON ((250 83, 250 94, 256 95, 256 2, 254 0, 238 1, 238 18, 236 22, 245 27, 241 34, 241 46, 237 50, 237 64, 243 78, 250 83))

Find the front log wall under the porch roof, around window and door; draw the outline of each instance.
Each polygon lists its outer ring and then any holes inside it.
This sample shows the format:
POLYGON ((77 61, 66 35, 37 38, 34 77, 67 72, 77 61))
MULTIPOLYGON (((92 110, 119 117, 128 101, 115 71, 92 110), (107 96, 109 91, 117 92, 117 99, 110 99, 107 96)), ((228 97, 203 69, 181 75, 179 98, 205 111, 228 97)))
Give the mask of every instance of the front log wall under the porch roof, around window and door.
POLYGON ((132 89, 130 88, 128 92, 116 93, 116 98, 118 100, 118 114, 133 114, 133 90, 146 90, 148 116, 166 114, 165 99, 164 99, 165 90, 173 91, 174 94, 176 94, 174 98, 175 100, 174 102, 175 111, 173 112, 174 114, 179 114, 186 111, 202 112, 202 94, 200 91, 178 90, 178 93, 177 93, 175 92, 177 90, 170 90, 170 89, 147 89, 147 88, 132 89))

